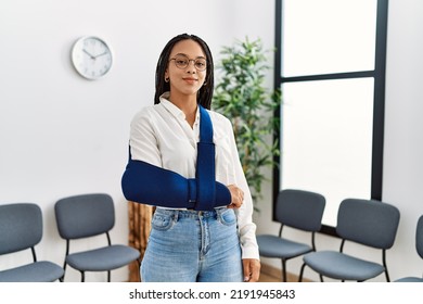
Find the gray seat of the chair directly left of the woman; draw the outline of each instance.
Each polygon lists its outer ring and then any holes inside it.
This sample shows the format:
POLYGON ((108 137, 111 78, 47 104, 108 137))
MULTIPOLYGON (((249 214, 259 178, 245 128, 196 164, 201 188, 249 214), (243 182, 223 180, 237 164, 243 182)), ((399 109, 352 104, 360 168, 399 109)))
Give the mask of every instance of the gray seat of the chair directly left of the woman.
POLYGON ((126 245, 111 245, 91 251, 69 254, 68 265, 81 271, 107 271, 128 265, 140 252, 126 245))

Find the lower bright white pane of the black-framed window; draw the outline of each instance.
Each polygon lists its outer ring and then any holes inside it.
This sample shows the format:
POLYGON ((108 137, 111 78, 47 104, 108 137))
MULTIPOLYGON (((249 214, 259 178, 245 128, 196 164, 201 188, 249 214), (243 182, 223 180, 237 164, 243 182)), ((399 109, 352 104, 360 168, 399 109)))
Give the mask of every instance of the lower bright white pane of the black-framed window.
POLYGON ((282 86, 281 189, 326 198, 323 224, 336 226, 343 199, 371 197, 373 78, 282 86))

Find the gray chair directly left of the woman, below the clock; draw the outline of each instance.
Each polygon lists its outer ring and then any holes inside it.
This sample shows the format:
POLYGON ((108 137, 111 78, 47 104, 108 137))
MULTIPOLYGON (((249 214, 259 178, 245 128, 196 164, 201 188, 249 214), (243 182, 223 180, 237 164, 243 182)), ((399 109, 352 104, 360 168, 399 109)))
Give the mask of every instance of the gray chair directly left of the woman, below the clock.
POLYGON ((54 205, 60 236, 66 240, 66 265, 77 269, 85 281, 86 271, 107 271, 138 261, 140 252, 129 245, 112 244, 110 230, 115 225, 113 199, 105 193, 73 195, 59 200, 54 205), (105 235, 107 243, 98 249, 70 253, 70 241, 105 235))

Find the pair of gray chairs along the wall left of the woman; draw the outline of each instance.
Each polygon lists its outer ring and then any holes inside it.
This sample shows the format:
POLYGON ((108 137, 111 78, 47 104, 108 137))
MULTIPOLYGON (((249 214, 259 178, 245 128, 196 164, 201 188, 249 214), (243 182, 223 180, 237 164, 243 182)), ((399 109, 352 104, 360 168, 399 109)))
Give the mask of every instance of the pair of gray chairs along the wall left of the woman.
POLYGON ((48 261, 37 261, 35 246, 42 239, 42 213, 35 203, 0 205, 0 255, 24 250, 33 252, 33 262, 0 270, 0 282, 64 281, 66 266, 77 269, 85 281, 86 271, 107 271, 138 261, 140 252, 131 246, 112 244, 110 231, 115 225, 113 199, 106 193, 73 195, 54 205, 61 238, 66 240, 63 267, 48 261), (107 244, 94 250, 70 252, 70 241, 105 235, 107 244))

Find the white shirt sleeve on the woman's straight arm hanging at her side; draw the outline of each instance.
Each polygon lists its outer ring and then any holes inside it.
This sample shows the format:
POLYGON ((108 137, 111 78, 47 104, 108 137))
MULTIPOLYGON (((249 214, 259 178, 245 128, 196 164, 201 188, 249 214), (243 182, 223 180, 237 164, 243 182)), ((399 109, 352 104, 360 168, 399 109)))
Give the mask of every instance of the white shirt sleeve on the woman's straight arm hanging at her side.
POLYGON ((238 217, 238 229, 240 233, 242 258, 259 259, 258 244, 256 239, 256 225, 253 223, 253 198, 241 165, 232 125, 229 121, 228 134, 230 135, 230 149, 235 175, 235 186, 240 187, 244 191, 244 203, 240 208, 234 210, 238 217))

